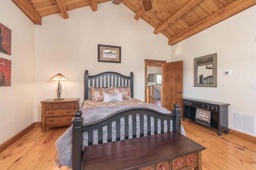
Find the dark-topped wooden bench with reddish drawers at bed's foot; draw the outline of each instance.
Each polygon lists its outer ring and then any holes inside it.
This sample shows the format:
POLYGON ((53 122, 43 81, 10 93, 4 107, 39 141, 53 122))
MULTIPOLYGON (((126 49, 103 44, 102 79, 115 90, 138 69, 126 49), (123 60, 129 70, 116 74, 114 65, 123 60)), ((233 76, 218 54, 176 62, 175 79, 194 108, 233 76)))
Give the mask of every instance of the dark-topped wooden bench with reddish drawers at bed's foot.
POLYGON ((86 146, 82 170, 201 170, 204 149, 178 132, 154 134, 86 146))

